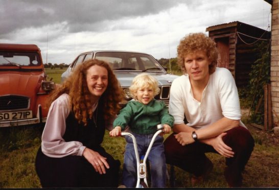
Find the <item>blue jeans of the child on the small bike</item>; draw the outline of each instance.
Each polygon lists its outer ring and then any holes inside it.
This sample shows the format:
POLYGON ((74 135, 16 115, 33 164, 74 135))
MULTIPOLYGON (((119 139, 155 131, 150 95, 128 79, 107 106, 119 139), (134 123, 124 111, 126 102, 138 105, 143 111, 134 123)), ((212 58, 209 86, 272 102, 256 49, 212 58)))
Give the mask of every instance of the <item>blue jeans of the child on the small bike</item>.
MULTIPOLYGON (((141 158, 142 155, 145 155, 153 134, 132 134, 135 136, 138 155, 141 158)), ((135 187, 137 181, 136 158, 132 138, 125 136, 125 139, 127 144, 124 154, 123 184, 131 188, 135 187)), ((167 168, 163 141, 164 138, 158 135, 148 155, 151 171, 151 187, 166 187, 167 168)))

